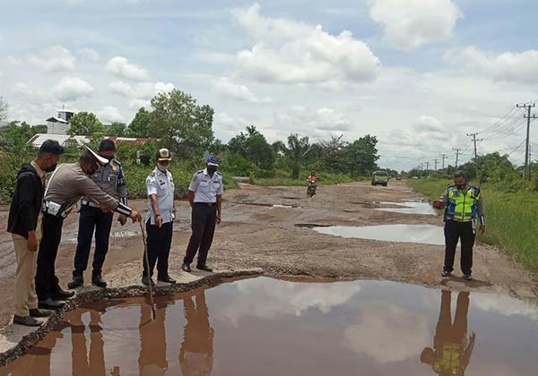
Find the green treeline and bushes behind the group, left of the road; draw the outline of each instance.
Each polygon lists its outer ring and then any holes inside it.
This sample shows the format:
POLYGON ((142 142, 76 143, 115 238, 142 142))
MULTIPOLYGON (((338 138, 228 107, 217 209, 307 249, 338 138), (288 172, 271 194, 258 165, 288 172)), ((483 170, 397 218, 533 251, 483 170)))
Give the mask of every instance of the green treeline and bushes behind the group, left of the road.
MULTIPOLYGON (((0 105, 0 203, 5 204, 11 199, 18 169, 35 156, 36 150, 27 142, 34 134, 47 132, 47 127, 9 120, 1 98, 0 105)), ((306 186, 312 170, 321 178, 319 184, 341 184, 368 177, 379 168, 377 138, 369 134, 354 141, 344 141, 340 135, 314 142, 308 135, 291 133, 269 143, 256 125, 249 125, 223 143, 214 137, 213 114, 212 107, 172 90, 152 98, 150 109, 140 108, 130 124, 102 124, 96 115, 82 111, 70 119, 67 132, 91 136, 89 146, 94 150, 104 136, 146 139, 138 144, 117 142, 117 159, 124 167, 131 199, 145 197, 145 178, 160 148, 172 152, 170 170, 178 198, 186 196, 192 175, 204 168, 208 155, 221 158, 227 189, 238 186, 234 179, 238 176, 250 184, 306 186)), ((82 150, 75 141, 67 142, 62 162, 75 161, 82 150)))

